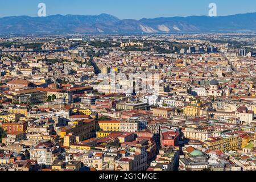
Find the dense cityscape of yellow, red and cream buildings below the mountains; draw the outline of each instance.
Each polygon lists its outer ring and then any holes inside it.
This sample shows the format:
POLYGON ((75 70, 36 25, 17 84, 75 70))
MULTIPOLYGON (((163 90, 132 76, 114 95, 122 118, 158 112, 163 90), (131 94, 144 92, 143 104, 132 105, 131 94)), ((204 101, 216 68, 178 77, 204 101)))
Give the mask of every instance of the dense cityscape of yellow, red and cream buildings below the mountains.
POLYGON ((1 36, 0 170, 255 170, 255 39, 1 36))

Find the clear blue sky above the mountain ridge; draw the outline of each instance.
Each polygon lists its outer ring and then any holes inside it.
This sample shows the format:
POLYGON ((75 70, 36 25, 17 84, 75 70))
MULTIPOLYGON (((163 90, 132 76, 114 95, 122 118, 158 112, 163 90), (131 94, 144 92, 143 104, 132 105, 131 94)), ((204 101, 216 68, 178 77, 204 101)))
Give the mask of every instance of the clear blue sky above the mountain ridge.
POLYGON ((46 3, 47 15, 112 14, 120 19, 208 15, 209 3, 216 3, 217 15, 256 12, 255 0, 0 0, 0 17, 38 14, 46 3))

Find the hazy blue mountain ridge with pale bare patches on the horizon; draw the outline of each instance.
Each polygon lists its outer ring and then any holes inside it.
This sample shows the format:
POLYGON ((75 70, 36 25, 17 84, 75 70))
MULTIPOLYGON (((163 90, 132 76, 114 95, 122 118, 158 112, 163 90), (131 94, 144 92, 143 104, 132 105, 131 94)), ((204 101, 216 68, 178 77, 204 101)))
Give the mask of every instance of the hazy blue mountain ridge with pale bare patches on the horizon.
POLYGON ((9 16, 0 18, 5 33, 177 33, 256 31, 256 13, 229 16, 188 16, 154 19, 118 19, 109 14, 9 16))

